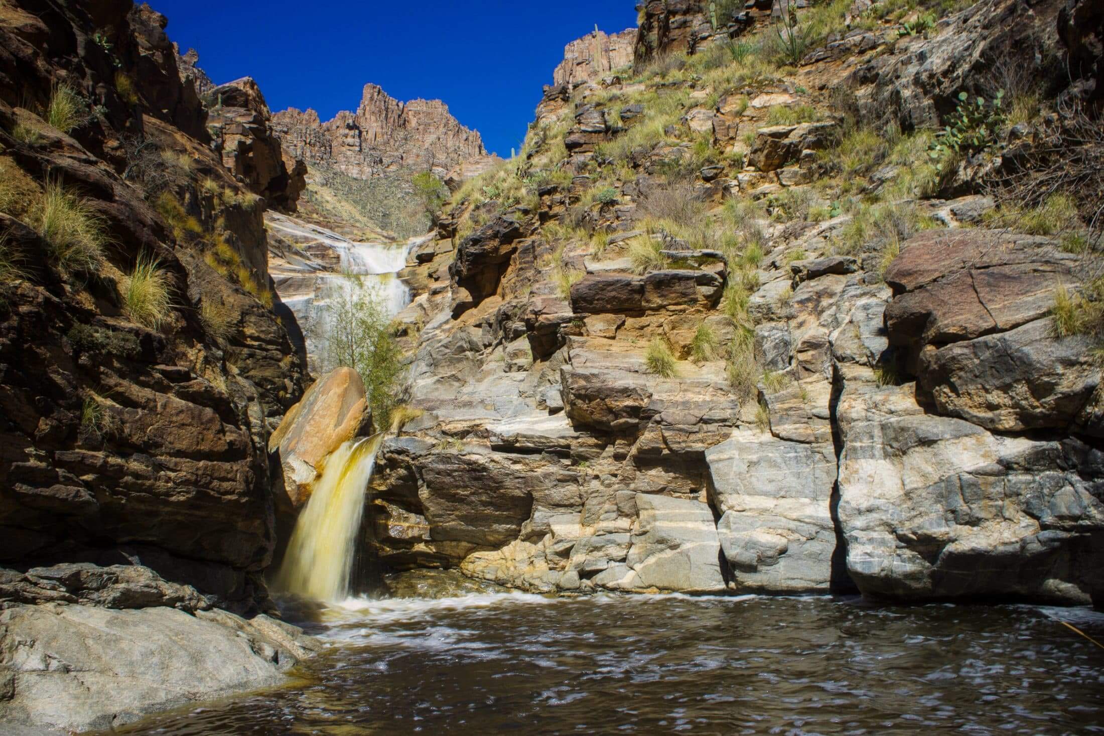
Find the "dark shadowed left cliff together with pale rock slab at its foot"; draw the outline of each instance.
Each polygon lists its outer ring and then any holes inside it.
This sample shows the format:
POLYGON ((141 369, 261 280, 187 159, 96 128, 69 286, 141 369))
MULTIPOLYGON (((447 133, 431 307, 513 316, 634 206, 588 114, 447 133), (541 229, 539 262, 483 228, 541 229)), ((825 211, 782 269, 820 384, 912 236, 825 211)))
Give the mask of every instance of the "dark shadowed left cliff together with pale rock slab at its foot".
POLYGON ((259 614, 267 440, 305 376, 258 193, 294 196, 253 175, 251 146, 278 160, 263 126, 212 140, 166 24, 128 1, 0 12, 6 724, 109 727, 306 653, 259 614))

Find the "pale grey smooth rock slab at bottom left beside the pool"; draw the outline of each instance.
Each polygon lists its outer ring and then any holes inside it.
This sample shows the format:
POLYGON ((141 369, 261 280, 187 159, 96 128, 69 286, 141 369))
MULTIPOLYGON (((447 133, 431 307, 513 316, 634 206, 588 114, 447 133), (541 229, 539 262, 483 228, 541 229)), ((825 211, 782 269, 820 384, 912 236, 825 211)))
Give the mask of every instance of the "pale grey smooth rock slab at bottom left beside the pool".
POLYGON ((318 649, 296 627, 263 615, 12 604, 0 611, 0 719, 38 733, 114 729, 275 685, 318 649))

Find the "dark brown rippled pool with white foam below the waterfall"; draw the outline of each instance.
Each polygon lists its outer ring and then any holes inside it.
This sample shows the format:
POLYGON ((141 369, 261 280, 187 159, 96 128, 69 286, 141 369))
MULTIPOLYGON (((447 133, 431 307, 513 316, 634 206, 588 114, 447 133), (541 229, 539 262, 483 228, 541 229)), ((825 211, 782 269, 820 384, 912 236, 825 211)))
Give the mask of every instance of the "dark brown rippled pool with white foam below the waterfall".
MULTIPOLYGON (((407 586, 406 595, 418 595, 407 586)), ((350 601, 275 692, 144 734, 1104 732, 1104 617, 832 598, 350 601)))

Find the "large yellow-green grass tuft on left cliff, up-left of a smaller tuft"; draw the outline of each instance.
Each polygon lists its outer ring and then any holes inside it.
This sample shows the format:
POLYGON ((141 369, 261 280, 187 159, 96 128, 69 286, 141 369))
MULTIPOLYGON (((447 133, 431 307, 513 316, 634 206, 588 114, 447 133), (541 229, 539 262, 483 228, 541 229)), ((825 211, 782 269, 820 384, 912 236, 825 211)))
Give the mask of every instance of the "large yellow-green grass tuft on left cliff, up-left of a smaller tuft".
POLYGON ((104 221, 84 198, 50 180, 32 206, 32 221, 57 267, 67 274, 94 273, 107 244, 104 221))

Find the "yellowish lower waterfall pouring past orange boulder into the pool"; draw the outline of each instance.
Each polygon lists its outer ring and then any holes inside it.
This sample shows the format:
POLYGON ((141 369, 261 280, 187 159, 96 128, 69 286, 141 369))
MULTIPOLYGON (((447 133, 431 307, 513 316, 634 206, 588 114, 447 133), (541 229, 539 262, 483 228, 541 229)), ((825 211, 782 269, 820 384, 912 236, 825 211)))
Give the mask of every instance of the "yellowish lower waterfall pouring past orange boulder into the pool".
POLYGON ((299 514, 276 588, 316 600, 349 597, 364 492, 382 435, 346 442, 330 455, 299 514))

